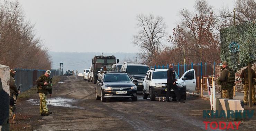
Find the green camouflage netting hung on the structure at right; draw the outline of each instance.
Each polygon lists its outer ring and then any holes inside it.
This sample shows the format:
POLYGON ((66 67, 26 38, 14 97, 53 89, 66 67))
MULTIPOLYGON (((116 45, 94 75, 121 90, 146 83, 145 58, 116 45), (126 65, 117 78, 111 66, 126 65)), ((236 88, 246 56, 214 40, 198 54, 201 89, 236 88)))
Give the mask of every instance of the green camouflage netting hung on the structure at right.
POLYGON ((220 30, 221 60, 237 71, 256 61, 256 21, 220 30))

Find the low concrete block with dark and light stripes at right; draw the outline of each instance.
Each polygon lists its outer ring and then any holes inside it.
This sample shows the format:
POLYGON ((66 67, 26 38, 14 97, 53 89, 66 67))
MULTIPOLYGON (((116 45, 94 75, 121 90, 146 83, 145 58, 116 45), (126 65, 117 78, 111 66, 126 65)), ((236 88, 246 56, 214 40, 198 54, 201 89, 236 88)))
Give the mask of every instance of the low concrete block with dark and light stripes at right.
POLYGON ((240 100, 216 98, 216 112, 218 111, 218 116, 220 116, 221 111, 225 111, 225 115, 229 119, 234 121, 242 120, 243 118, 239 116, 243 116, 244 110, 244 104, 240 100))

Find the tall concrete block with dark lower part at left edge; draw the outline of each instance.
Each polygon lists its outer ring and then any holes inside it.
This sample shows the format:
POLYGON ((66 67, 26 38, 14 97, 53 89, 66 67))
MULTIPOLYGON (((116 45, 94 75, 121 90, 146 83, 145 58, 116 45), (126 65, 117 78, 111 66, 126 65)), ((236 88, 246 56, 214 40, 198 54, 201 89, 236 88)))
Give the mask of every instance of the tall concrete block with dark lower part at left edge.
POLYGON ((0 64, 0 131, 9 131, 9 67, 0 64))

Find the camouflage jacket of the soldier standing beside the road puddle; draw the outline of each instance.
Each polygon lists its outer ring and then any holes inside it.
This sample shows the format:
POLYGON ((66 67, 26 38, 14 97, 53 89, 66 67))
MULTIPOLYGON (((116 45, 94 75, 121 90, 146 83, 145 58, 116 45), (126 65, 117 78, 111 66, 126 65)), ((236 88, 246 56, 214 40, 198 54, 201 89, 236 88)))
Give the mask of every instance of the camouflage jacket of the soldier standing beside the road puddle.
POLYGON ((52 94, 52 78, 46 77, 44 74, 36 80, 37 93, 52 94), (47 82, 48 85, 44 85, 47 82))

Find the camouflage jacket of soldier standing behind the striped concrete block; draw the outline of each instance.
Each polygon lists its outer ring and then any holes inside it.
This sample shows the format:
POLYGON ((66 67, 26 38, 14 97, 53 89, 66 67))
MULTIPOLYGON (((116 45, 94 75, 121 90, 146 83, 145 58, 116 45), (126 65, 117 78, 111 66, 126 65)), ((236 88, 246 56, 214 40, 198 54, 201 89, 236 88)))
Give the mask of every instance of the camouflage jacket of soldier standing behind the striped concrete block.
POLYGON ((218 78, 218 81, 220 81, 221 83, 221 89, 232 88, 235 84, 235 83, 228 82, 228 73, 229 73, 228 70, 230 70, 228 66, 223 68, 221 71, 220 77, 218 78))

